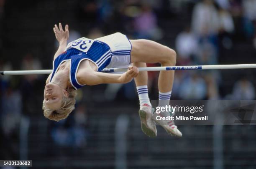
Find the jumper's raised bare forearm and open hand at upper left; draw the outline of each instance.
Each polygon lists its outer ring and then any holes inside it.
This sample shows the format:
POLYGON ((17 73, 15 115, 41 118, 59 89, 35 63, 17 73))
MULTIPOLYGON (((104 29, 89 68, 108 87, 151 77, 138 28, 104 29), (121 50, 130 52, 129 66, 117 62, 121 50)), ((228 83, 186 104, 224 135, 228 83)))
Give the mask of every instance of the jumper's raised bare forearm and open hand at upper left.
POLYGON ((59 28, 55 24, 53 30, 56 39, 59 41, 59 48, 54 55, 55 59, 57 56, 63 53, 67 47, 67 40, 69 39, 69 25, 65 25, 65 30, 63 30, 61 23, 59 23, 59 28))

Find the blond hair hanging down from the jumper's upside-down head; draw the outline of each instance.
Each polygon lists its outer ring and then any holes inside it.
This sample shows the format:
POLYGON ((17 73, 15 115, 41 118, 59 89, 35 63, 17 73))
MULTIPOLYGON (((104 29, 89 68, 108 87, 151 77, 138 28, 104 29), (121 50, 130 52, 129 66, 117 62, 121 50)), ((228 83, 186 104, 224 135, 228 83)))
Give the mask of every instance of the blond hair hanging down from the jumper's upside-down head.
POLYGON ((43 101, 43 110, 44 116, 50 120, 60 121, 62 119, 66 119, 67 116, 74 110, 74 105, 76 103, 75 96, 77 91, 74 88, 69 88, 69 96, 63 97, 61 101, 61 107, 57 110, 51 110, 46 107, 43 101))

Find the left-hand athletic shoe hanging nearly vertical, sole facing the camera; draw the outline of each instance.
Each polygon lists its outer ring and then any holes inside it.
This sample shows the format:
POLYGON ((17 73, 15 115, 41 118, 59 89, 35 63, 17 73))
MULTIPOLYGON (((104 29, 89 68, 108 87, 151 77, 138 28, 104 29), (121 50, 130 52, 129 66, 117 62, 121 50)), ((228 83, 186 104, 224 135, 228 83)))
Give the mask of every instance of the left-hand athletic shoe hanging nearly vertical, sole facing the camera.
POLYGON ((156 137, 156 123, 152 120, 152 108, 148 104, 143 104, 139 110, 141 118, 141 130, 149 137, 156 137))

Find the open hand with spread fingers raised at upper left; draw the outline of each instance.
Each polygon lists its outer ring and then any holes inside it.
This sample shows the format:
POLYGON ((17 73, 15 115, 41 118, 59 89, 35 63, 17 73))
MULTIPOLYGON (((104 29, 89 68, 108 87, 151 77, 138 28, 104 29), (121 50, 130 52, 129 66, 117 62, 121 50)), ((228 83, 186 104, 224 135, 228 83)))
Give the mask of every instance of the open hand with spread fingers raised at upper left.
POLYGON ((62 29, 61 23, 59 23, 59 28, 54 25, 55 37, 59 42, 66 41, 69 39, 69 25, 65 25, 65 31, 62 29))

